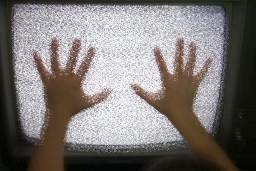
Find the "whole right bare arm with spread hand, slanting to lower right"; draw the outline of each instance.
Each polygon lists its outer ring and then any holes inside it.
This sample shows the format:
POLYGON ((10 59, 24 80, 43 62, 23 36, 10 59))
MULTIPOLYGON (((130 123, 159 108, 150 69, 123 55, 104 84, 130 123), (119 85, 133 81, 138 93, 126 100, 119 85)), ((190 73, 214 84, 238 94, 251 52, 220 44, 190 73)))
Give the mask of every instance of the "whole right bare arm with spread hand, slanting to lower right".
POLYGON ((212 59, 207 59, 203 68, 193 75, 196 60, 196 44, 190 44, 187 64, 183 64, 184 40, 178 39, 175 54, 175 72, 169 74, 163 56, 158 47, 154 53, 160 70, 163 90, 153 94, 139 85, 132 85, 136 93, 172 122, 191 150, 205 159, 217 163, 226 171, 238 171, 220 146, 214 142, 193 112, 193 100, 199 84, 202 82, 212 59), (161 96, 160 99, 154 98, 161 96))

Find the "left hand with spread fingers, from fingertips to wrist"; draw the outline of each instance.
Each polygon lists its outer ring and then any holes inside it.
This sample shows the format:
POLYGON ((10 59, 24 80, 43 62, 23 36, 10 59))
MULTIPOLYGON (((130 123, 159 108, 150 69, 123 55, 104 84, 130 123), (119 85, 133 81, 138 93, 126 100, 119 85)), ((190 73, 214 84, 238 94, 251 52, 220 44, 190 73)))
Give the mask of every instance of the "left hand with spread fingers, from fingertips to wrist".
MULTIPOLYGON (((105 100, 110 94, 109 89, 94 95, 84 93, 81 82, 90 67, 90 63, 95 56, 95 49, 89 47, 78 71, 75 73, 78 54, 81 48, 81 40, 73 41, 69 59, 65 68, 61 68, 59 62, 59 44, 57 38, 51 40, 51 73, 46 70, 38 52, 33 53, 37 70, 45 86, 46 106, 51 111, 68 113, 68 118, 72 117, 81 110, 105 100)), ((64 117, 64 116, 63 116, 64 117)))

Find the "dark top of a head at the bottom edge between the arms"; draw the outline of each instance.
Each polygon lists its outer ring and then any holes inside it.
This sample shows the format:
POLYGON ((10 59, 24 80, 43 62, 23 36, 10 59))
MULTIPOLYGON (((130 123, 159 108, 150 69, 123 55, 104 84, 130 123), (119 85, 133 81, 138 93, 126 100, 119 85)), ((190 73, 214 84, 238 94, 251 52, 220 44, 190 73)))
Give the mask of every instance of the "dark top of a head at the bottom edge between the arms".
POLYGON ((178 155, 157 158, 140 171, 225 171, 220 165, 196 155, 178 155))

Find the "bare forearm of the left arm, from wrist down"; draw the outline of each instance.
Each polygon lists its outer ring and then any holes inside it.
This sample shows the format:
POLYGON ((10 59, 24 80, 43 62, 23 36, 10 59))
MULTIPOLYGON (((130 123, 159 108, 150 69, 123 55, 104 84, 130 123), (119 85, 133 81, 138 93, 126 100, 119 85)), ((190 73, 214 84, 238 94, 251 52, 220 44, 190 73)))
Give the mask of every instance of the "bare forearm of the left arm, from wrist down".
POLYGON ((42 144, 36 147, 28 171, 63 171, 63 140, 68 119, 50 114, 42 144))

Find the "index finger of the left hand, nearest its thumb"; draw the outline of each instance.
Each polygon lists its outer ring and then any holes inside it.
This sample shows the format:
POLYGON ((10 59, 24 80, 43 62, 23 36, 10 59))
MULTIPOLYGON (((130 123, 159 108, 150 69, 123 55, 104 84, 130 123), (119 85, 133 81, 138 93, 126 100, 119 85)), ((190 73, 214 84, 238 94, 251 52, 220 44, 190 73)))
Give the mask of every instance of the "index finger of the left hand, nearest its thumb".
POLYGON ((84 75, 87 73, 94 55, 95 55, 95 50, 93 47, 90 47, 87 51, 87 55, 85 56, 84 61, 81 63, 77 71, 78 80, 82 80, 84 75))

